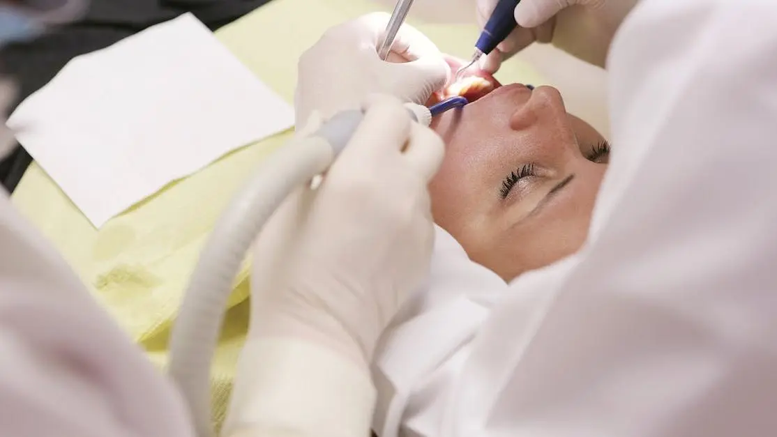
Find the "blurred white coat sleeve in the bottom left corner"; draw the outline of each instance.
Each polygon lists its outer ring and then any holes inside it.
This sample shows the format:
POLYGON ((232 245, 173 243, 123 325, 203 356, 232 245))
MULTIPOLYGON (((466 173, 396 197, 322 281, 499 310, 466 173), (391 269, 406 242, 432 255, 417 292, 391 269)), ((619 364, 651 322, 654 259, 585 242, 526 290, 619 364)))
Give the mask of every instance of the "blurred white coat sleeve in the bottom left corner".
POLYGON ((190 437, 172 384, 0 193, 0 434, 190 437))

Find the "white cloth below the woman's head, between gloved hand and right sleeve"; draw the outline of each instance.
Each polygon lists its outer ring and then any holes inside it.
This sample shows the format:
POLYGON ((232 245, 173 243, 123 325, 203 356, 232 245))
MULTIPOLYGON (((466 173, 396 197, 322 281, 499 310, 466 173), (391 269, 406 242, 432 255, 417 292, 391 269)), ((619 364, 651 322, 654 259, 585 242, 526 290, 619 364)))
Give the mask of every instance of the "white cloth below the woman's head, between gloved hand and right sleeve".
POLYGON ((395 317, 378 345, 373 428, 378 435, 436 435, 445 390, 460 371, 479 324, 507 292, 496 273, 472 262, 435 225, 430 278, 395 317))

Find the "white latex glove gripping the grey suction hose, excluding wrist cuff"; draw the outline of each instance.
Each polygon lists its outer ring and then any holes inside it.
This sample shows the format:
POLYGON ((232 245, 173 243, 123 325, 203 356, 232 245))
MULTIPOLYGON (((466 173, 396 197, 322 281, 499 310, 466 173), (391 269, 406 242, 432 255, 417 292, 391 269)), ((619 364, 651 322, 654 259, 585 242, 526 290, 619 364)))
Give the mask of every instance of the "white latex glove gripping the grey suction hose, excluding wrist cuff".
MULTIPOLYGON (((308 340, 367 372, 378 336, 428 273, 427 182, 444 149, 398 99, 373 96, 365 108, 321 186, 295 192, 260 234, 249 341, 308 340)), ((305 133, 319 126, 311 118, 305 133)))

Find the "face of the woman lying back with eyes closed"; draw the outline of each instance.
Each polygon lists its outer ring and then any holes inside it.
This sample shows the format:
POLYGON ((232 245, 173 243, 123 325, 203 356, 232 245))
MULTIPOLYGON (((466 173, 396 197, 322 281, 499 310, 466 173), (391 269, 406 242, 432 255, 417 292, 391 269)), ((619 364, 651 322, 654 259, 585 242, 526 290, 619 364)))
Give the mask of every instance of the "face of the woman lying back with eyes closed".
POLYGON ((502 86, 432 127, 446 144, 434 220, 473 261, 510 280, 584 243, 609 147, 555 88, 502 86))

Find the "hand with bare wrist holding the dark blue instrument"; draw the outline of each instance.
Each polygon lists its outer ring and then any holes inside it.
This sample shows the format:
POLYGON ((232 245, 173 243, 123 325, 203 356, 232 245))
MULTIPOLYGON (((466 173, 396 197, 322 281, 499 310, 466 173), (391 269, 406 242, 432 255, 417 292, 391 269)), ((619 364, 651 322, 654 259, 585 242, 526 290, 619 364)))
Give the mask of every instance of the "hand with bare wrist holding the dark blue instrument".
MULTIPOLYGON (((476 0, 477 18, 484 26, 497 0, 476 0)), ((483 61, 497 71, 502 61, 533 42, 554 46, 583 61, 605 66, 615 31, 639 0, 523 0, 515 8, 518 27, 483 61), (573 8, 572 6, 580 6, 573 8)))

